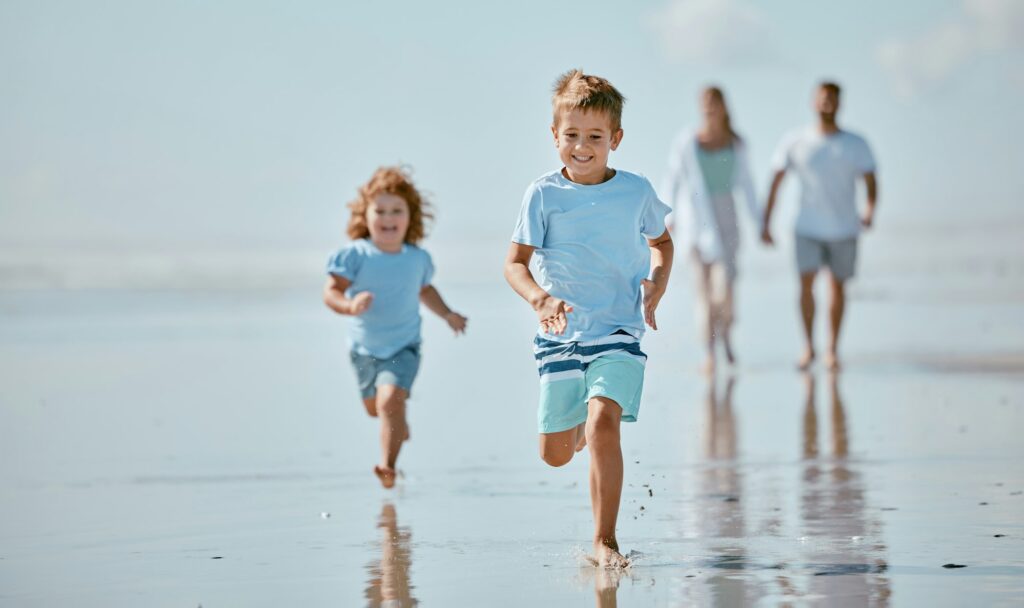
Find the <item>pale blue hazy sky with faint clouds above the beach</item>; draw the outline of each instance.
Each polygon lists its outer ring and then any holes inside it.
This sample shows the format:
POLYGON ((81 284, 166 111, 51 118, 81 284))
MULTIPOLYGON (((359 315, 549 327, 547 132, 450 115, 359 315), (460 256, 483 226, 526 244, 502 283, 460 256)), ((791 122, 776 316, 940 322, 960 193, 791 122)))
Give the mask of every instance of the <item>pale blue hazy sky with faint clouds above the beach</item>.
POLYGON ((1022 40, 1014 0, 7 1, 0 242, 330 249, 396 162, 435 240, 506 240, 558 167, 549 91, 573 67, 627 95, 612 164, 655 184, 715 82, 763 191, 829 77, 879 158, 880 222, 1019 217, 1022 40))

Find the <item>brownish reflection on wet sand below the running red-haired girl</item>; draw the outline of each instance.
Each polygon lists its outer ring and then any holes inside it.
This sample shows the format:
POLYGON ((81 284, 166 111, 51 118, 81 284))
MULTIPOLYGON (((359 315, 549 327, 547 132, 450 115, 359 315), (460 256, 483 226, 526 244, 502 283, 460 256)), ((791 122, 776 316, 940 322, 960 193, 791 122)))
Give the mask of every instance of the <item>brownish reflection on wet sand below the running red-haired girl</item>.
POLYGON ((408 527, 398 525, 398 516, 391 503, 384 503, 381 507, 377 527, 381 529, 381 556, 379 561, 367 565, 370 574, 366 590, 367 606, 397 608, 418 605, 409 580, 413 565, 413 533, 408 527))

